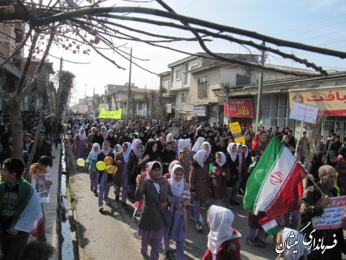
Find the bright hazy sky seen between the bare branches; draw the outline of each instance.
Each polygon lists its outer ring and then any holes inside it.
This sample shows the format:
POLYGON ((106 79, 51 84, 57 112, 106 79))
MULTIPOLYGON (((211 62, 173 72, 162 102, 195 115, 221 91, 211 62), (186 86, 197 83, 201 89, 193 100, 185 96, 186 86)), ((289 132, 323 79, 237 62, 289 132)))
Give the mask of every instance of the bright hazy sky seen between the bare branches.
MULTIPOLYGON (((166 0, 177 13, 217 24, 255 31, 283 40, 300 42, 313 46, 346 52, 346 1, 344 0, 166 0)), ((162 9, 154 1, 150 3, 132 3, 129 1, 109 1, 116 6, 143 6, 162 9)), ((109 6, 109 5, 108 5, 109 6)), ((120 21, 127 24, 127 21, 120 21)), ((136 24, 137 28, 154 33, 168 33, 174 36, 192 37, 172 28, 136 24)), ((240 37, 239 35, 233 35, 240 37)), ((242 37, 246 40, 246 37, 242 37)), ((116 40, 117 41, 117 40, 116 40)), ((260 44, 260 40, 254 40, 260 44)), ((125 42, 118 40, 116 44, 125 42)), ((208 47, 218 53, 249 53, 238 44, 230 44, 221 40, 208 42, 208 47)), ((138 61, 138 64, 161 73, 169 70, 167 64, 187 57, 188 55, 159 49, 138 42, 128 42, 127 48, 132 47, 133 56, 147 61, 138 61)), ((203 51, 197 43, 182 42, 170 44, 172 48, 182 49, 190 53, 203 51)), ((327 55, 308 53, 296 49, 286 49, 271 45, 276 49, 293 53, 300 58, 315 62, 324 69, 346 71, 346 60, 327 55)), ((260 51, 250 49, 251 53, 259 54, 260 51)), ((71 51, 53 48, 51 54, 57 58, 64 58, 63 69, 75 74, 75 88, 73 100, 83 98, 84 95, 92 96, 95 93, 104 94, 107 84, 124 85, 129 80, 129 61, 113 53, 107 53, 114 58, 123 69, 117 69, 109 61, 104 60, 97 53, 91 51, 90 55, 73 54, 71 51), (79 62, 75 64, 73 62, 79 62)), ((59 70, 60 62, 51 56, 55 71, 59 70)), ((134 60, 136 60, 134 58, 134 60)), ((292 62, 267 53, 266 63, 288 67, 306 68, 302 64, 292 62)), ((159 78, 157 75, 132 66, 131 83, 138 87, 158 89, 159 78)))

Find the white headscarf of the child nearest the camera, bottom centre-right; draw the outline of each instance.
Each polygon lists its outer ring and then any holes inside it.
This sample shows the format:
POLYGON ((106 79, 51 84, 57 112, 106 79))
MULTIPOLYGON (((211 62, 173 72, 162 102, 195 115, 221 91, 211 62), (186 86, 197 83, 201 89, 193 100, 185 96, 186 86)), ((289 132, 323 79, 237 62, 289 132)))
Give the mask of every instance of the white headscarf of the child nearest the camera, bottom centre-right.
POLYGON ((230 209, 212 205, 208 211, 208 218, 210 223, 208 248, 213 254, 217 254, 222 243, 232 239, 232 223, 235 215, 230 209))

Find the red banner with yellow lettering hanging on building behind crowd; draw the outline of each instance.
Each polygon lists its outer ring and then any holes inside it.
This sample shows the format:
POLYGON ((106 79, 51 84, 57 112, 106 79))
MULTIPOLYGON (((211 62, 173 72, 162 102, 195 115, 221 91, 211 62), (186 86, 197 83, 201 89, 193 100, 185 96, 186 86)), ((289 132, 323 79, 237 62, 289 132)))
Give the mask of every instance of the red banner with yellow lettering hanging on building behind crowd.
POLYGON ((224 104, 225 116, 228 116, 228 107, 230 109, 230 117, 253 118, 253 101, 251 98, 230 99, 228 105, 224 104))

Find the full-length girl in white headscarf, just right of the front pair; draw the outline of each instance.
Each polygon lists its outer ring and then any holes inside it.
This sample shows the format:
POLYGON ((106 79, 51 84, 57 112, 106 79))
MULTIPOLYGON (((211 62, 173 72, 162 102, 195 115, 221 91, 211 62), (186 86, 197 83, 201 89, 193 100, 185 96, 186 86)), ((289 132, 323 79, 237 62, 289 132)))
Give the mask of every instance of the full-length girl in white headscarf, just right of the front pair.
POLYGON ((199 150, 194 155, 194 161, 190 170, 190 191, 191 196, 194 198, 194 207, 192 216, 196 222, 197 231, 201 231, 203 228, 203 218, 200 216, 201 205, 206 204, 206 200, 209 199, 209 168, 206 164, 207 156, 206 150, 199 150))

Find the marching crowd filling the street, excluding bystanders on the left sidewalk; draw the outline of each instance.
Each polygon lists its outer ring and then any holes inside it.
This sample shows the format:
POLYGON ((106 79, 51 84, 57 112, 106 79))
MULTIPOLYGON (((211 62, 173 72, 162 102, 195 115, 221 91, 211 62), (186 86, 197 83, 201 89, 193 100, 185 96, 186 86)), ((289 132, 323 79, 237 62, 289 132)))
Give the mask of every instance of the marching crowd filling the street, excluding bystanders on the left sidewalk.
MULTIPOLYGON (((228 125, 220 123, 192 123, 183 119, 163 122, 145 118, 118 121, 80 118, 70 119, 68 125, 75 158, 87 158, 90 189, 98 196, 99 211, 104 210, 103 202, 109 204, 111 187, 114 187, 116 201, 120 201, 121 196, 122 207, 128 207, 127 200, 135 202, 135 214, 140 217, 140 253, 147 259, 158 259, 161 247, 170 259, 170 240, 176 242, 177 259, 183 259, 188 219, 194 222, 197 232, 205 228, 205 223, 210 225, 209 249, 203 259, 240 259, 239 232, 231 227, 234 219, 231 209, 239 206, 237 198, 246 192, 253 162, 257 162, 274 136, 306 164, 307 172, 318 184, 323 186, 326 172, 333 168, 338 174, 338 181, 331 181, 336 187, 333 185, 332 189, 337 192, 324 194, 345 195, 346 146, 332 131, 327 142, 321 145, 321 150, 316 151, 311 162, 307 162, 307 132, 296 140, 289 128, 272 130, 262 127, 254 130, 251 125, 243 125, 245 143, 240 144, 235 143, 228 125), (96 167, 97 162, 107 156, 114 158, 116 170, 112 174, 98 171, 96 167), (325 167, 321 166, 330 168, 325 171, 325 167), (188 205, 192 205, 191 216, 187 216, 188 205), (201 212, 208 209, 207 220, 204 220, 201 212), (228 232, 221 234, 217 232, 221 227, 220 219, 226 219, 226 216, 230 220, 222 225, 229 227, 228 232), (213 221, 219 222, 212 224, 213 221), (152 248, 150 256, 147 255, 148 245, 152 248)), ((322 206, 328 204, 329 197, 322 198, 320 194, 317 195, 320 200, 306 199, 303 187, 314 191, 315 186, 307 181, 296 189, 297 201, 279 220, 282 227, 298 230, 300 222, 305 223, 306 219, 311 220, 320 214, 320 211, 311 211, 310 207, 318 207, 316 203, 322 203, 322 206), (307 208, 310 209, 308 212, 307 208)), ((262 218, 260 214, 249 213, 246 243, 265 248, 267 235, 258 223, 258 219, 262 218)), ((341 252, 345 253, 345 247, 342 250, 342 245, 345 245, 343 236, 340 232, 338 234, 340 243, 336 250, 330 250, 331 257, 326 259, 341 259, 341 252)), ((315 253, 309 254, 309 258, 313 259, 315 253)), ((288 254, 286 252, 282 256, 288 254)), ((326 256, 325 252, 323 257, 326 256)))

